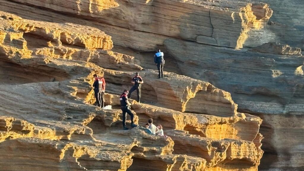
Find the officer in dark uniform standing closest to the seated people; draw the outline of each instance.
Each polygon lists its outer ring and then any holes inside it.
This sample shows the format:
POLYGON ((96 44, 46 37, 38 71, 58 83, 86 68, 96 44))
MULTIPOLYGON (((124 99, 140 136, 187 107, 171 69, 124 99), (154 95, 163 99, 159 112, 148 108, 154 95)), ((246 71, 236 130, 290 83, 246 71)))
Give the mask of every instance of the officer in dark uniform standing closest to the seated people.
POLYGON ((127 130, 126 127, 126 113, 128 113, 131 117, 131 127, 137 127, 138 125, 134 124, 134 114, 130 110, 131 103, 128 101, 127 94, 129 92, 127 90, 123 90, 123 94, 120 96, 120 106, 123 111, 123 130, 127 130))

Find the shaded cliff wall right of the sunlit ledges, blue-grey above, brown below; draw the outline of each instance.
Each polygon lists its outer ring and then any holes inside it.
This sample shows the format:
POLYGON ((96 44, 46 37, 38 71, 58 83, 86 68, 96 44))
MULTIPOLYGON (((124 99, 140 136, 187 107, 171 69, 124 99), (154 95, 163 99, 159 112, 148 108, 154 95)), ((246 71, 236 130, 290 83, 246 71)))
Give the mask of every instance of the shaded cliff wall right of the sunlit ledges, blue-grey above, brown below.
POLYGON ((181 40, 166 40, 165 44, 168 52, 179 61, 183 75, 210 82, 231 92, 239 112, 251 113, 264 120, 261 127, 261 133, 266 137, 262 141, 265 150, 263 169, 302 167, 298 159, 302 158, 303 153, 297 151, 299 157, 292 157, 292 146, 299 147, 298 142, 302 141, 300 136, 294 134, 302 132, 302 121, 298 118, 302 118, 304 110, 303 56, 299 54, 299 48, 286 50, 286 45, 269 43, 266 45, 273 48, 261 45, 246 51, 202 47, 181 40), (182 50, 179 48, 181 46, 182 50), (188 52, 187 60, 183 54, 185 51, 188 52), (269 163, 272 163, 271 166, 268 166, 269 163))

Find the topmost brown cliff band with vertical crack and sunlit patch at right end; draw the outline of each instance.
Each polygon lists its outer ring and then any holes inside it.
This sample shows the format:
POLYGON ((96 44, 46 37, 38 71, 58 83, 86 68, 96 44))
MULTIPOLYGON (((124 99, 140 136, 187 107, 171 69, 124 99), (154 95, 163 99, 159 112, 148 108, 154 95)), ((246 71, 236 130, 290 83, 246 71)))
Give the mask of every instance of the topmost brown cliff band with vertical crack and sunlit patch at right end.
POLYGON ((105 24, 110 26, 104 27, 105 31, 112 36, 117 45, 144 51, 154 50, 156 45, 162 45, 168 37, 217 46, 243 47, 248 32, 263 28, 272 15, 272 10, 267 4, 232 0, 107 0, 102 3, 92 0, 81 3, 69 0, 64 4, 49 0, 13 2, 47 8, 105 24), (146 39, 147 37, 149 39, 146 39))

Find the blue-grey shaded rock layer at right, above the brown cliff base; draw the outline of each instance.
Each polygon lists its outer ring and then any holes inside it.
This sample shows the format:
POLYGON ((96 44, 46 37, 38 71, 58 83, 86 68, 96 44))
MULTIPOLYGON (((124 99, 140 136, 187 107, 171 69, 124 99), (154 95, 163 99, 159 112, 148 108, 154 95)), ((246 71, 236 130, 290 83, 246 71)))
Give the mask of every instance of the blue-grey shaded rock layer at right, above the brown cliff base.
POLYGON ((180 61, 179 68, 183 74, 231 92, 241 111, 302 113, 302 104, 293 103, 302 101, 302 56, 265 53, 263 57, 257 57, 261 53, 210 45, 201 47, 181 40, 166 40, 164 44, 168 52, 180 61), (184 49, 178 48, 180 46, 184 49), (184 51, 188 52, 186 57, 191 57, 190 60, 185 58, 184 51), (202 53, 205 53, 203 58, 202 53), (226 58, 227 54, 229 58, 226 58))

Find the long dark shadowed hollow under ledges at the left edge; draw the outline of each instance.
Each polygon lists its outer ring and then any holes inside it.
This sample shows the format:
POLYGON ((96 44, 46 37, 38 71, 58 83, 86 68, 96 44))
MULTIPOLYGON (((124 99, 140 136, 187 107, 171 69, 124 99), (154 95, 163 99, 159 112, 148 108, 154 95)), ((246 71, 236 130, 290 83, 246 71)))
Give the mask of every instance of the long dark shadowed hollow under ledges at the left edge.
POLYGON ((0 85, 63 81, 70 78, 70 75, 60 69, 43 65, 22 66, 1 58, 0 65, 0 85))

